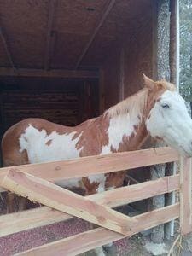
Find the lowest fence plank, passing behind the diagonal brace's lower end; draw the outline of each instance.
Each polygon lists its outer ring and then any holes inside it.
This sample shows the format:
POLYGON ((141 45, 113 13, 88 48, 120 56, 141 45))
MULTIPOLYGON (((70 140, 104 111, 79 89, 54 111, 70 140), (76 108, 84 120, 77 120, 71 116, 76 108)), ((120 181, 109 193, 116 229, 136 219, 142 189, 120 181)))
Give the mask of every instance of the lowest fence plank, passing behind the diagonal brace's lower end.
MULTIPOLYGON (((137 234, 139 231, 148 230, 156 225, 166 223, 172 219, 179 217, 179 204, 168 207, 156 209, 152 212, 146 212, 137 215, 136 219, 138 224, 130 232, 130 236, 137 234)), ((64 238, 60 241, 54 241, 40 247, 32 248, 23 253, 16 254, 17 256, 52 256, 52 255, 65 255, 72 256, 79 253, 84 253, 95 247, 108 244, 109 242, 117 241, 125 236, 115 233, 111 230, 97 228, 80 233, 75 236, 64 238)))

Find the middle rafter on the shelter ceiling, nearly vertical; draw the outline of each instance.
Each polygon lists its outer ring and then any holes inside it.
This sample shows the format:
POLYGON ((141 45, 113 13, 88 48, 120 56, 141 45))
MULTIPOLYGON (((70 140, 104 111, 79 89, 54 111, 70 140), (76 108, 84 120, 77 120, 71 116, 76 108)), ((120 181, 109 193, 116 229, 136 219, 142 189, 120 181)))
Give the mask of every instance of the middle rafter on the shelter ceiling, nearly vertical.
POLYGON ((44 55, 44 69, 45 70, 49 70, 50 52, 51 52, 51 48, 52 48, 52 51, 54 49, 53 42, 55 42, 55 40, 53 38, 55 37, 55 33, 52 32, 52 30, 53 30, 53 22, 54 22, 54 14, 55 14, 55 3, 56 3, 56 0, 49 0, 47 41, 46 41, 45 55, 44 55))

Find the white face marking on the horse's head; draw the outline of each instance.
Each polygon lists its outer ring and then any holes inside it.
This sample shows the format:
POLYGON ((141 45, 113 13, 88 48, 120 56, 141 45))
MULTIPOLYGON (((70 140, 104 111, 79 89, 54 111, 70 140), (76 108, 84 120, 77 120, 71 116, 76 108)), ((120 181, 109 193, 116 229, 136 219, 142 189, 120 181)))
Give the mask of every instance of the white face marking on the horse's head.
POLYGON ((166 90, 151 109, 146 126, 152 137, 161 137, 168 145, 187 156, 192 155, 192 120, 183 97, 166 90))

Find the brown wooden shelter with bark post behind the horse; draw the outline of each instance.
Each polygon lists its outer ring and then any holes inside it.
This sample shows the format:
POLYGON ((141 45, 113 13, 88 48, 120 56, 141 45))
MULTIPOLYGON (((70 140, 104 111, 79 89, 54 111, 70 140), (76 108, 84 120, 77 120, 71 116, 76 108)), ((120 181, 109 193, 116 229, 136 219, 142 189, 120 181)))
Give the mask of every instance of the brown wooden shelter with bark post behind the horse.
MULTIPOLYGON (((178 84, 177 13, 177 0, 1 1, 1 136, 29 117, 71 126, 96 117, 140 90, 142 73, 178 84)), ((152 234, 161 241, 163 227, 152 234)))

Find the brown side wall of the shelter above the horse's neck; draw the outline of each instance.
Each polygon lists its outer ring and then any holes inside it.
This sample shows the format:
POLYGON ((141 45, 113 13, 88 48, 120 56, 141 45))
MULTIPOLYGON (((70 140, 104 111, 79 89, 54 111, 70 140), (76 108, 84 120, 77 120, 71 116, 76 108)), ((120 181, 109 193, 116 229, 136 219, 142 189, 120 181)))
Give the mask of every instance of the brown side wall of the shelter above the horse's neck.
POLYGON ((119 102, 120 86, 124 87, 124 97, 131 96, 140 90, 143 87, 142 73, 148 77, 153 77, 152 63, 152 3, 148 3, 148 18, 143 20, 143 26, 137 27, 132 35, 125 35, 123 40, 113 45, 111 54, 108 55, 102 65, 103 108, 107 109, 119 102), (122 50, 124 51, 123 61, 122 50), (123 79, 122 75, 124 76, 123 79))

